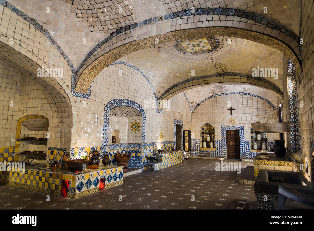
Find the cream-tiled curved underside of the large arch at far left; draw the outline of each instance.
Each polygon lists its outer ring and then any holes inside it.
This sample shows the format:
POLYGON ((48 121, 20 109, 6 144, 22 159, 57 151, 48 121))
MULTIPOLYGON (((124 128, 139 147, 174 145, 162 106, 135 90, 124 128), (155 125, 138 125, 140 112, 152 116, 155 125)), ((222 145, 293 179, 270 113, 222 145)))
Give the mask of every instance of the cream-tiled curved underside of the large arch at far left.
POLYGON ((0 42, 0 51, 0 58, 8 66, 14 64, 21 72, 34 79, 48 98, 51 113, 48 130, 50 139, 48 139, 47 146, 70 148, 71 136, 69 134, 72 131, 73 109, 76 110, 76 107, 66 84, 62 79, 56 80, 53 76, 37 76, 37 68, 41 68, 40 64, 2 42, 0 42))

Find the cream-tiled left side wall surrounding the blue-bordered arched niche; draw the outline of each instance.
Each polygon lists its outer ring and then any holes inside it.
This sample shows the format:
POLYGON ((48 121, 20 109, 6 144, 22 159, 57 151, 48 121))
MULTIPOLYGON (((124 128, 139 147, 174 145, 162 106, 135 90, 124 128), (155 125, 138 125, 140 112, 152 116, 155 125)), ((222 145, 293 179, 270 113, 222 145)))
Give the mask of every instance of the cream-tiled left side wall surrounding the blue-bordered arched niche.
MULTIPOLYGON (((138 70, 123 64, 106 67, 93 81, 90 99, 75 97, 77 108, 81 113, 78 114, 77 118, 74 118, 74 121, 76 121, 74 127, 77 126, 78 128, 72 133, 71 146, 103 146, 103 137, 100 134, 104 122, 104 108, 113 99, 129 99, 143 108, 145 131, 149 131, 145 133, 145 143, 173 142, 174 120, 183 121, 182 129, 188 127, 191 121, 191 112, 187 99, 183 94, 178 94, 170 100, 170 110, 164 110, 164 114, 161 114, 156 111, 155 107, 145 108, 144 101, 150 98, 155 99, 154 92, 147 79, 138 70), (119 75, 119 70, 122 70, 122 76, 119 75), (83 102, 85 102, 86 108, 83 107, 83 102), (93 119, 88 118, 89 114, 93 115, 93 119), (93 129, 88 129, 90 127, 93 127, 93 129), (159 137, 160 132, 164 134, 162 140, 159 137)), ((130 120, 128 126, 130 126, 130 120)), ((140 122, 142 132, 143 120, 140 120, 140 122)), ((136 134, 136 137, 138 137, 138 134, 136 134)), ((109 135, 110 140, 111 136, 109 135)), ((135 138, 134 142, 138 143, 139 139, 135 138)))

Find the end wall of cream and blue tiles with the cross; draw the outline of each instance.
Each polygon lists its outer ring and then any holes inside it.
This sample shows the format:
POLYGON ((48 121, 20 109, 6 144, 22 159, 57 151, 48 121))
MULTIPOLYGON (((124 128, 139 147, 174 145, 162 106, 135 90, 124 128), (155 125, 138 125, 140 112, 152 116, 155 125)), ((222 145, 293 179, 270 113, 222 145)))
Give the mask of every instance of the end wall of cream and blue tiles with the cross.
MULTIPOLYGON (((277 104, 277 99, 271 99, 273 104, 277 104)), ((192 155, 206 155, 210 153, 213 157, 225 157, 225 129, 240 130, 241 158, 254 158, 256 152, 251 149, 251 123, 252 122, 278 122, 278 111, 263 99, 250 95, 232 94, 221 95, 204 101, 192 113, 192 132, 195 138, 192 139, 192 151, 200 151, 192 155), (227 110, 228 102, 233 110, 227 110), (219 115, 219 116, 217 116, 219 115), (235 124, 230 123, 230 119, 235 120, 235 124), (200 151, 200 128, 204 123, 210 123, 215 127, 215 148, 216 150, 200 151)), ((277 133, 268 133, 268 141, 278 139, 277 133)))

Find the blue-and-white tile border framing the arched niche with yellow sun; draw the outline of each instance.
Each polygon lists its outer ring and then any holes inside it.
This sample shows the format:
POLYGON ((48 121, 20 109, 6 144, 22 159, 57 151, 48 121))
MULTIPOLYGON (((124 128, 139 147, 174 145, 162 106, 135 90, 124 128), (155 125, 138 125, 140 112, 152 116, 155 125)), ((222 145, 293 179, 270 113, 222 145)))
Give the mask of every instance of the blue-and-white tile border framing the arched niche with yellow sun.
POLYGON ((142 106, 134 102, 131 99, 113 99, 106 104, 105 109, 104 109, 104 127, 103 127, 103 136, 102 136, 102 145, 108 146, 110 110, 119 106, 127 106, 127 107, 135 108, 142 114, 142 118, 143 118, 142 143, 144 143, 145 142, 146 116, 145 116, 145 112, 142 106))

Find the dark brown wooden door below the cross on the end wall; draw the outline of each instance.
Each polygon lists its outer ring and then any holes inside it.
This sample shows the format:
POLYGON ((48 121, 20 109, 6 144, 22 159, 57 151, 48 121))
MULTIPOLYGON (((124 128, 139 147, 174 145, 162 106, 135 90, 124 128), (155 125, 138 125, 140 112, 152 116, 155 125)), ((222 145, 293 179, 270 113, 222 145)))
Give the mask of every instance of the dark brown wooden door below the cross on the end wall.
POLYGON ((240 133, 239 130, 226 130, 227 158, 240 159, 240 133))

